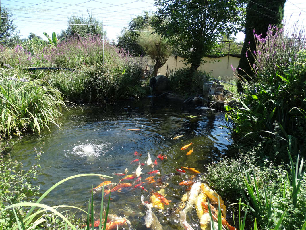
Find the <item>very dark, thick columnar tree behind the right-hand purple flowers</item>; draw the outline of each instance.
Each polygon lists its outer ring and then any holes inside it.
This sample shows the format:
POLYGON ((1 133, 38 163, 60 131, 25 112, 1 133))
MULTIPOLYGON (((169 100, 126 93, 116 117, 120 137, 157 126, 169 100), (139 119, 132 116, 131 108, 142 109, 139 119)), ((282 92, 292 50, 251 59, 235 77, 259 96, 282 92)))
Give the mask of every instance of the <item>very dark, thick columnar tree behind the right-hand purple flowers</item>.
MULTIPOLYGON (((245 39, 241 50, 241 59, 237 67, 237 74, 241 80, 251 81, 253 72, 250 65, 253 66, 254 57, 250 52, 247 53, 247 47, 251 52, 255 51, 255 40, 253 30, 256 34, 261 34, 262 38, 266 37, 269 24, 282 26, 284 17, 284 5, 286 0, 269 1, 253 0, 248 2, 246 9, 245 22, 245 39), (246 54, 247 53, 247 54, 246 54)), ((238 81, 238 92, 242 92, 241 81, 238 81)))

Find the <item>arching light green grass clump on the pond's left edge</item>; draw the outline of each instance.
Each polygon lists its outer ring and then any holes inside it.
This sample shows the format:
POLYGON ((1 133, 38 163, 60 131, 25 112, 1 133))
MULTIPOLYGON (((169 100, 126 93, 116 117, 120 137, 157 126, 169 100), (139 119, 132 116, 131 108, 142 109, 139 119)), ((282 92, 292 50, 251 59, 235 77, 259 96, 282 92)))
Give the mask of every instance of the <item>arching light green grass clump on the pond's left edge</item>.
POLYGON ((12 76, 1 69, 0 92, 0 137, 59 125, 56 120, 62 117, 65 103, 62 93, 47 82, 30 81, 27 75, 12 76))

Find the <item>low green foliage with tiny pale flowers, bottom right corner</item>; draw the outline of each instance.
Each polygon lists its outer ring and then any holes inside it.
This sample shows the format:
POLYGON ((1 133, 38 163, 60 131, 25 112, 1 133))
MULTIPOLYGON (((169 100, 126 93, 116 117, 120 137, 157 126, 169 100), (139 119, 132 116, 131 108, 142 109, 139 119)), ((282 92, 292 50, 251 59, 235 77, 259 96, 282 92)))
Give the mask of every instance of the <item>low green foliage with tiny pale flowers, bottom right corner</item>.
POLYGON ((302 163, 291 165, 290 170, 297 172, 297 176, 288 174, 284 163, 276 166, 268 160, 262 162, 256 156, 261 148, 240 153, 238 159, 224 158, 211 163, 205 179, 221 196, 230 194, 231 202, 239 200, 241 195, 245 201, 243 206, 247 207, 250 202, 248 216, 253 221, 256 219, 260 229, 301 229, 306 205, 306 173, 299 171, 302 163), (300 184, 299 190, 294 189, 297 187, 294 181, 300 184), (295 199, 297 205, 294 205, 295 199))

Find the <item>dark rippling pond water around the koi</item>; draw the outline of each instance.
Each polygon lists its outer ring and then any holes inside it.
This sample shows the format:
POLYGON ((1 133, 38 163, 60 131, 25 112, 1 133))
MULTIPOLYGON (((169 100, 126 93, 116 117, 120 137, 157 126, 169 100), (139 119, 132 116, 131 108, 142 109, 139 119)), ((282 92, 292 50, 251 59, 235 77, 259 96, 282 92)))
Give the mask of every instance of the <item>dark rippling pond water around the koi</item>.
MULTIPOLYGON (((54 126, 50 128, 50 132, 43 130, 41 135, 24 135, 10 151, 13 159, 29 168, 36 163, 34 148, 39 150, 43 146, 40 160, 42 175, 34 182, 41 185, 41 192, 68 176, 83 173, 104 174, 113 177, 110 181, 119 182, 122 177, 113 173, 124 173, 127 169, 127 174, 132 174, 139 162, 145 164, 141 166, 142 181, 151 176, 147 172, 154 170, 159 170, 161 176, 177 173, 176 169, 180 167, 195 168, 203 172, 205 166, 224 155, 231 144, 229 135, 226 134, 229 131, 222 128, 224 113, 195 108, 194 105, 148 97, 139 102, 125 101, 113 105, 90 104, 80 107, 69 107, 69 111, 64 112, 65 119, 61 121, 61 129, 54 126), (178 135, 184 136, 173 140, 178 135), (190 142, 193 143, 193 152, 186 155, 191 147, 186 150, 181 150, 181 147, 190 142), (135 151, 142 155, 135 156, 135 151), (156 159, 157 165, 146 164, 147 152, 153 162, 156 159), (167 159, 158 159, 159 154, 166 155, 167 159), (135 159, 140 160, 131 164, 135 159)), ((181 196, 186 191, 179 182, 190 176, 188 173, 174 175, 166 181, 168 185, 164 189, 166 198, 171 200, 170 205, 163 212, 152 209, 165 229, 181 229, 176 221, 177 217, 168 216, 167 210, 181 202, 181 196)), ((158 177, 156 175, 154 179, 158 177)), ((133 183, 135 180, 136 178, 122 182, 133 183)), ((97 176, 66 181, 48 194, 43 203, 51 206, 74 205, 87 210, 89 191, 92 186, 98 186, 101 182, 103 180, 97 176)), ((144 195, 144 200, 149 201, 150 192, 160 189, 144 184, 143 187, 148 190, 146 192, 139 187, 134 189, 134 185, 112 193, 110 214, 122 216, 123 213, 142 212, 145 208, 141 205, 141 195, 144 195)), ((95 211, 99 213, 101 193, 94 195, 94 201, 95 211)), ((187 216, 188 222, 195 229, 198 228, 199 220, 195 211, 190 211, 187 216)), ((96 217, 98 218, 98 214, 96 217)), ((137 229, 147 229, 144 218, 140 217, 135 215, 128 219, 133 227, 140 220, 137 229)))

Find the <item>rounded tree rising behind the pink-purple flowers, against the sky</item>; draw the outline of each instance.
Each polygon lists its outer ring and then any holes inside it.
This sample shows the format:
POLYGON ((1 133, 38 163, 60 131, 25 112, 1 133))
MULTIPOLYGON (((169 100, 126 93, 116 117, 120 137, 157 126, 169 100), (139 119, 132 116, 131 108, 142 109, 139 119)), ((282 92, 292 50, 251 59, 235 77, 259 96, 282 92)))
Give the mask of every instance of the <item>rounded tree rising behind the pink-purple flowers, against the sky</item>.
MULTIPOLYGON (((82 25, 68 25, 65 33, 67 36, 88 36, 88 35, 103 35, 102 23, 88 13, 88 18, 81 16, 72 16, 68 19, 68 24, 82 24, 82 25)), ((62 32, 63 37, 65 37, 62 32)))

